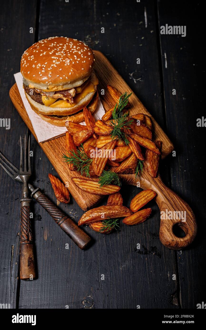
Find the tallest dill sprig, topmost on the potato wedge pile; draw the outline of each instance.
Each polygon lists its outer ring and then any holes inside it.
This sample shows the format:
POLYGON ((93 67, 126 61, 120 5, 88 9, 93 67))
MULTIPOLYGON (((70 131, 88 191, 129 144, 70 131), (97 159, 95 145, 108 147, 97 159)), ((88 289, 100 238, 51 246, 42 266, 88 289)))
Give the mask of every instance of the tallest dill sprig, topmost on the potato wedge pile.
POLYGON ((129 125, 132 124, 133 120, 128 120, 129 112, 123 114, 122 111, 126 107, 129 97, 132 93, 128 94, 125 92, 119 97, 119 103, 115 105, 114 110, 112 111, 113 119, 110 120, 110 125, 112 126, 112 131, 110 133, 112 140, 118 138, 121 142, 123 141, 126 146, 129 144, 127 139, 127 134, 123 131, 123 128, 129 128, 129 125))

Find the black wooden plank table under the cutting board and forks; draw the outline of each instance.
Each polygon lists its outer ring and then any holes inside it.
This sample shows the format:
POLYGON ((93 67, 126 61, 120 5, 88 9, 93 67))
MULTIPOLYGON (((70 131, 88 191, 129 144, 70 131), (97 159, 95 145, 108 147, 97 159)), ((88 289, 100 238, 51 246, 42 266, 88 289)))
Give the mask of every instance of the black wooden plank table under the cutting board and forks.
MULTIPOLYGON (((0 150, 19 166, 20 135, 27 127, 9 89, 23 51, 50 36, 83 40, 106 55, 174 143, 176 157, 165 159, 160 172, 193 209, 198 235, 183 251, 165 248, 158 237, 160 212, 153 202, 152 216, 138 226, 122 225, 111 235, 85 227, 95 243, 81 251, 33 202, 38 279, 20 281, 21 186, 0 168, 0 303, 11 308, 178 309, 205 301, 206 128, 196 126, 197 118, 205 115, 203 13, 201 3, 177 0, 1 3, 0 118, 10 118, 11 128, 0 127, 0 150), (186 36, 161 35, 165 24, 186 25, 186 36)), ((48 173, 56 172, 33 137, 31 149, 32 180, 56 203, 48 179, 48 173)), ((121 191, 128 206, 139 190, 125 186, 121 191)), ((73 200, 60 208, 75 222, 83 214, 73 200)))

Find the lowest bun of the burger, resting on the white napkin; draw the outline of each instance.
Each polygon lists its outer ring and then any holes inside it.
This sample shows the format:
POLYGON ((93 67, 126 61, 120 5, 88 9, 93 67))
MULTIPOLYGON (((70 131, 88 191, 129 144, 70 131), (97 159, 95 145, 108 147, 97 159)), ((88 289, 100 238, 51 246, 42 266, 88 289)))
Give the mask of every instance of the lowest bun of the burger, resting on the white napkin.
MULTIPOLYGON (((90 110, 90 112, 92 114, 97 109, 98 100, 99 100, 99 94, 98 94, 98 90, 97 90, 96 93, 95 93, 95 95, 94 95, 94 97, 93 97, 93 99, 90 101, 90 103, 88 105, 85 105, 85 106, 87 106, 88 110, 90 110)), ((50 123, 52 125, 55 125, 55 126, 65 126, 65 121, 66 120, 72 121, 74 123, 80 123, 80 122, 84 121, 83 110, 79 111, 76 114, 68 115, 68 116, 47 116, 47 115, 39 114, 37 111, 35 111, 35 112, 43 120, 45 120, 48 123, 50 123)))

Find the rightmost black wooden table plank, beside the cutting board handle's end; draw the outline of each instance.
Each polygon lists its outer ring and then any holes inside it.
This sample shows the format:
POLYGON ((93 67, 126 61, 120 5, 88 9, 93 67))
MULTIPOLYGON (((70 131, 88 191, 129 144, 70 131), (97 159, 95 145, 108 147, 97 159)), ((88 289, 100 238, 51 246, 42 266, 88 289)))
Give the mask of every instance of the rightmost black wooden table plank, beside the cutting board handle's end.
POLYGON ((167 129, 176 151, 171 160, 172 188, 191 205, 198 225, 197 239, 191 247, 177 252, 180 300, 182 308, 196 308, 205 301, 205 129, 196 126, 197 118, 205 116, 205 90, 201 83, 205 60, 200 46, 204 39, 204 10, 201 3, 174 1, 171 6, 159 1, 158 11, 159 26, 186 26, 185 37, 160 38, 167 129), (174 88, 176 95, 172 95, 174 88))

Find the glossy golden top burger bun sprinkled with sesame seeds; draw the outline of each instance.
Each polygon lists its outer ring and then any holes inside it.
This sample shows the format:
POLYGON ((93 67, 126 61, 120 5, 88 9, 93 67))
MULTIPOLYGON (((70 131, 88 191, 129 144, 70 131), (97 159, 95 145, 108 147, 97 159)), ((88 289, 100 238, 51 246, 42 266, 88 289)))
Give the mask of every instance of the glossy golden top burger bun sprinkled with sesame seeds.
POLYGON ((80 86, 94 66, 92 49, 82 41, 50 37, 33 44, 21 57, 21 74, 31 88, 52 91, 80 86))

